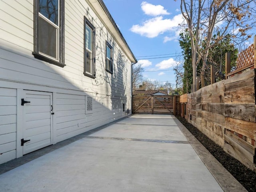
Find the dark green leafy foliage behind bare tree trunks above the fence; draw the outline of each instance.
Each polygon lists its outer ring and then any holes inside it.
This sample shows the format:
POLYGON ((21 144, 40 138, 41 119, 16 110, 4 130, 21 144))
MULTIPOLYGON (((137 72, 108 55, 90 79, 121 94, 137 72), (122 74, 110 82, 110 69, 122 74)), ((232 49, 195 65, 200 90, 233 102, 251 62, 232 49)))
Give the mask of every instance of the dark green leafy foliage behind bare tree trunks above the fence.
MULTIPOLYGON (((182 53, 184 56, 184 76, 183 76, 183 93, 190 93, 191 84, 193 83, 192 74, 192 50, 190 35, 188 32, 180 33, 180 47, 182 48, 182 53), (187 71, 187 72, 186 72, 187 71), (188 86, 188 87, 187 87, 188 86)), ((202 41, 202 47, 204 47, 204 41, 202 41)), ((210 66, 214 64, 215 67, 215 81, 221 81, 225 79, 225 54, 227 52, 231 53, 231 68, 236 67, 236 59, 238 55, 238 49, 234 47, 231 43, 231 35, 225 37, 220 37, 219 34, 212 36, 211 48, 208 52, 207 58, 207 68, 205 70, 205 84, 210 85, 211 83, 211 68, 210 66)), ((202 69, 202 59, 197 65, 197 75, 200 76, 200 69, 202 69)))

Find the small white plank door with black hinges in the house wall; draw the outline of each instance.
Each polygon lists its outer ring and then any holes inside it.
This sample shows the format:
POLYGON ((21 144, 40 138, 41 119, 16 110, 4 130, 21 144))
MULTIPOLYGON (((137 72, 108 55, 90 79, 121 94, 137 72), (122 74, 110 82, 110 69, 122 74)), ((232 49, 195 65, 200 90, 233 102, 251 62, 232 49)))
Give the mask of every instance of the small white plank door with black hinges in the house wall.
POLYGON ((52 93, 26 91, 24 101, 21 145, 23 154, 27 154, 53 143, 52 93))

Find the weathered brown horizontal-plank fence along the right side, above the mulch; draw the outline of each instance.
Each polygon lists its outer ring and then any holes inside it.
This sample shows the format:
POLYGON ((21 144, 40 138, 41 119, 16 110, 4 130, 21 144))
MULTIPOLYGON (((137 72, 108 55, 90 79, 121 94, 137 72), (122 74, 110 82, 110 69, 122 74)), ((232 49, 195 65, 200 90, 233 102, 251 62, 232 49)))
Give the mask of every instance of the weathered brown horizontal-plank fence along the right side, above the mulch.
POLYGON ((187 121, 251 169, 255 168, 255 69, 187 95, 187 121))

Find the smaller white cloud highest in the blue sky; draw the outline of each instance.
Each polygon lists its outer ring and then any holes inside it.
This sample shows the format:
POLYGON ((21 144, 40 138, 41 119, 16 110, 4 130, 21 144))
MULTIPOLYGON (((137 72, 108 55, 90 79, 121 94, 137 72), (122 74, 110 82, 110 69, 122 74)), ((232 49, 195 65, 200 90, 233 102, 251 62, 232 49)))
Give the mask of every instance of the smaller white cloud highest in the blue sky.
POLYGON ((162 5, 153 5, 146 1, 141 3, 141 9, 146 15, 150 16, 170 15, 162 5))

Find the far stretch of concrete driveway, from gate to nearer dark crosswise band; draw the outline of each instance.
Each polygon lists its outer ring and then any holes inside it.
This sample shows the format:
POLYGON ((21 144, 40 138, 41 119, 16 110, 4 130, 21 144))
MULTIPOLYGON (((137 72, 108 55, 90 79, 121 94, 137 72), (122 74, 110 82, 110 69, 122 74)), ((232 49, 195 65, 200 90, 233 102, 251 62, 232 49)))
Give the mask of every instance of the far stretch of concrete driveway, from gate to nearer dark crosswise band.
POLYGON ((187 141, 170 115, 133 115, 91 136, 187 141))

